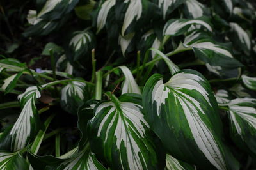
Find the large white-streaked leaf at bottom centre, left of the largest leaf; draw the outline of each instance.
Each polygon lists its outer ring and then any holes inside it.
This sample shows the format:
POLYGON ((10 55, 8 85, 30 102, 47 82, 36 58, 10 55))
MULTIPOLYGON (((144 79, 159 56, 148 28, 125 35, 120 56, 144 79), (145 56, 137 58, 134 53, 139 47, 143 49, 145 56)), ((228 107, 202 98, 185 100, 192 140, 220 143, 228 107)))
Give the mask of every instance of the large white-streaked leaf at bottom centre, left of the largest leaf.
POLYGON ((88 129, 90 145, 111 169, 161 169, 159 153, 141 112, 141 97, 126 93, 100 102, 88 129))

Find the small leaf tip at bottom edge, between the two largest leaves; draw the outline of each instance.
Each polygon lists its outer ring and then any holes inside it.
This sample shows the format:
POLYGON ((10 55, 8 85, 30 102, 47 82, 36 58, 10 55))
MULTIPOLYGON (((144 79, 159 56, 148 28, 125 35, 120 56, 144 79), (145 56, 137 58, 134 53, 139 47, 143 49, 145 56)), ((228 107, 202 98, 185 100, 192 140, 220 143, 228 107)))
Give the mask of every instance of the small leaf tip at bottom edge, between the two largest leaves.
POLYGON ((195 170, 196 168, 191 166, 190 164, 177 160, 173 158, 171 155, 166 155, 166 170, 195 170))

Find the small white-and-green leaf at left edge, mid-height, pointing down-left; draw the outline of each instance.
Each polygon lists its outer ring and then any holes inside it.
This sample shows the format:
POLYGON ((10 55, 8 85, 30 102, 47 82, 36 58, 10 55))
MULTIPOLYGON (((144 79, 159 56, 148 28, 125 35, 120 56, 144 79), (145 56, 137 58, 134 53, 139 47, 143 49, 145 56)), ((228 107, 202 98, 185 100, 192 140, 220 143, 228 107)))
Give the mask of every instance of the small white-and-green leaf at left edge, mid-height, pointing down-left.
POLYGON ((16 86, 17 81, 19 80, 20 76, 23 72, 15 73, 10 77, 4 79, 4 84, 2 89, 4 89, 5 94, 10 93, 16 86))

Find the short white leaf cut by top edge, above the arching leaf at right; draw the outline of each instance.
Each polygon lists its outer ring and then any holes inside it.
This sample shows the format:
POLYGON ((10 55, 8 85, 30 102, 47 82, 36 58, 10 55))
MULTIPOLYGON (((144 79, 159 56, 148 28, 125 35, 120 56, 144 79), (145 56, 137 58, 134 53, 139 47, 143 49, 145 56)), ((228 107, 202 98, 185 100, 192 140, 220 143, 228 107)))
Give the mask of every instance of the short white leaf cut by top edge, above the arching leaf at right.
POLYGON ((204 15, 204 4, 196 0, 187 0, 185 2, 186 10, 188 10, 188 16, 195 19, 204 15))

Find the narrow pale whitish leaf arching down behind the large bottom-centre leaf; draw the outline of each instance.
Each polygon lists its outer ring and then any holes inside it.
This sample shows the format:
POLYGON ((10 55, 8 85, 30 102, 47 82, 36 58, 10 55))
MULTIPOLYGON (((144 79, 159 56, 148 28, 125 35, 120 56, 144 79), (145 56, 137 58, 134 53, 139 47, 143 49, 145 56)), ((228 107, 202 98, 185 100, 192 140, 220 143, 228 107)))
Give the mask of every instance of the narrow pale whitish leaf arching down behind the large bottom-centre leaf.
POLYGON ((132 76, 131 71, 126 66, 119 66, 125 76, 125 80, 122 84, 122 94, 124 93, 138 93, 141 94, 140 88, 134 77, 132 76))

